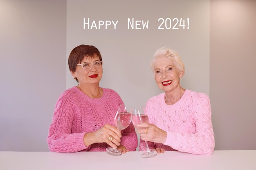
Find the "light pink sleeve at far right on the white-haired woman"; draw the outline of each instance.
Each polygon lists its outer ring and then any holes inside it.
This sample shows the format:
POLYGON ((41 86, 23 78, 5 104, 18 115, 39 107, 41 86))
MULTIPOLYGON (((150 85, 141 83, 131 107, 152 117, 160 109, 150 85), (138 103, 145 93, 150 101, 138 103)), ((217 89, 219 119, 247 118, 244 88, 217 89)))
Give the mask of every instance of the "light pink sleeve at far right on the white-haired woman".
POLYGON ((205 94, 193 99, 195 133, 167 131, 167 139, 164 145, 186 153, 210 155, 213 153, 215 146, 210 100, 205 94))

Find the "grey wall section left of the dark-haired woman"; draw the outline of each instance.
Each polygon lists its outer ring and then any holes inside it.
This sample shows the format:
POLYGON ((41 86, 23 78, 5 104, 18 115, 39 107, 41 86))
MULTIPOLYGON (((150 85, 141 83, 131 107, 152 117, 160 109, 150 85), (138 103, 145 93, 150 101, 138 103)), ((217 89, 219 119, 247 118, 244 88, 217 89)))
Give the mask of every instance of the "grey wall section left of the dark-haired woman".
POLYGON ((0 0, 0 24, 0 150, 49 150, 66 87, 66 2, 0 0))

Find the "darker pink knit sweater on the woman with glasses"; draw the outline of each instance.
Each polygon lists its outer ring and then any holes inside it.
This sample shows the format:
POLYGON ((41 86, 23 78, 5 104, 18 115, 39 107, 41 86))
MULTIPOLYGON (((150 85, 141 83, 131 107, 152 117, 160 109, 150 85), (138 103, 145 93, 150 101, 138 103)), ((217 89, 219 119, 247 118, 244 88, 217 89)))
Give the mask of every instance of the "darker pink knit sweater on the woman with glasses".
MULTIPOLYGON (((71 153, 78 151, 106 151, 106 143, 94 143, 86 147, 85 133, 99 130, 105 124, 114 125, 115 113, 124 102, 112 89, 103 89, 101 98, 92 99, 72 87, 63 92, 56 102, 47 143, 50 151, 71 153)), ((137 134, 132 124, 121 131, 121 145, 135 151, 137 134)))

